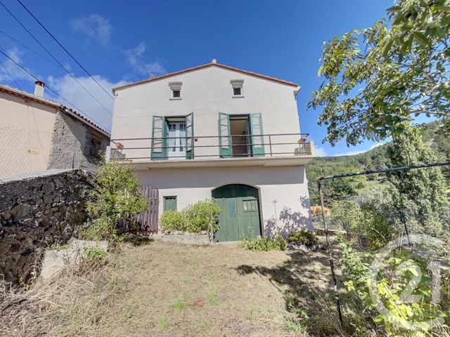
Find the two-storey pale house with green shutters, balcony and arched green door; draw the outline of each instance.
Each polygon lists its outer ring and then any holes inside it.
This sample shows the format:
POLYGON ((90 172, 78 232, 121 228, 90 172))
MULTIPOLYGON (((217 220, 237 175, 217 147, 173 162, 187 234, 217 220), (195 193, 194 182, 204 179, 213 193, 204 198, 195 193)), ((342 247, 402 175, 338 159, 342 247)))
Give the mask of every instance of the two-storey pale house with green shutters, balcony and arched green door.
POLYGON ((113 89, 112 155, 159 189, 159 216, 204 199, 216 241, 313 229, 297 84, 215 60, 113 89))

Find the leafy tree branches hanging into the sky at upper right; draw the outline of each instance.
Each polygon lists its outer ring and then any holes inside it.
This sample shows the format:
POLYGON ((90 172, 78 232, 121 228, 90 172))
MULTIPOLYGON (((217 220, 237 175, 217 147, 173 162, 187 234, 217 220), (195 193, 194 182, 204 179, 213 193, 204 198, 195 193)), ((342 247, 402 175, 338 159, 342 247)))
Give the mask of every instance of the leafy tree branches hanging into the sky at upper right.
POLYGON ((324 81, 308 103, 323 107, 323 142, 384 139, 420 114, 450 131, 450 0, 399 0, 387 12, 388 20, 324 43, 324 81))

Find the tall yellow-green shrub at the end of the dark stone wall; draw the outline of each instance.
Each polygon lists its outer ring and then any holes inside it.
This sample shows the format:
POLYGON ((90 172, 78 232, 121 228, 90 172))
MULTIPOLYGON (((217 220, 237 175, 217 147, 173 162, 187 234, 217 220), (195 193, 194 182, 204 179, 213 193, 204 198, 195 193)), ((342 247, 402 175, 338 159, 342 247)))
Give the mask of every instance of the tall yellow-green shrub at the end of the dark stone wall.
POLYGON ((86 239, 117 239, 117 223, 133 223, 134 215, 147 209, 147 201, 139 195, 139 180, 126 165, 110 161, 96 172, 96 185, 86 203, 94 219, 84 231, 86 239))

